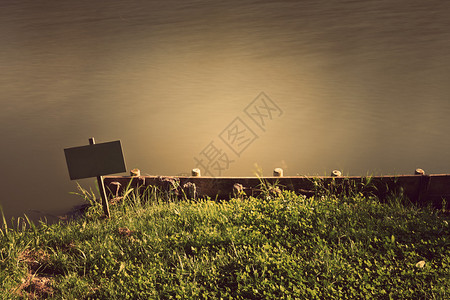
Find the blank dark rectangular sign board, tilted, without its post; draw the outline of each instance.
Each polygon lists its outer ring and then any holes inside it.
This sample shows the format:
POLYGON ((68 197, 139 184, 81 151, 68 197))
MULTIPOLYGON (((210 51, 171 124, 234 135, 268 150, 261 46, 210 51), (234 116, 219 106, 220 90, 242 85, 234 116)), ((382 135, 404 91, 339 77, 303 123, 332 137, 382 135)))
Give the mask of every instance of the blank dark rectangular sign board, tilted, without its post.
POLYGON ((70 179, 125 172, 120 141, 64 149, 70 179))

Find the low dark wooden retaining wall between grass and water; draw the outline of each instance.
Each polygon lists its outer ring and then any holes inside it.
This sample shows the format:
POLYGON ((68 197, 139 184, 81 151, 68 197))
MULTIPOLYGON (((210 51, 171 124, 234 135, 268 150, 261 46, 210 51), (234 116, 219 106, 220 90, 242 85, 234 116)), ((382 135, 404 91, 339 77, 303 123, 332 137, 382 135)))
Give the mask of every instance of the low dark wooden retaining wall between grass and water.
MULTIPOLYGON (((257 196, 270 187, 287 189, 307 196, 321 191, 345 194, 349 190, 386 199, 390 195, 404 195, 413 203, 431 204, 442 208, 442 199, 450 199, 450 175, 398 175, 398 176, 286 176, 286 177, 179 177, 179 176, 105 176, 108 196, 120 196, 128 185, 141 192, 148 187, 160 191, 192 197, 208 196, 229 199, 239 193, 257 196), (264 187, 265 185, 265 187, 264 187)), ((148 189, 147 189, 148 190, 148 189)), ((276 192, 276 189, 273 189, 276 192)), ((450 201, 448 201, 450 202, 450 201)), ((446 203, 448 209, 449 203, 446 203)))

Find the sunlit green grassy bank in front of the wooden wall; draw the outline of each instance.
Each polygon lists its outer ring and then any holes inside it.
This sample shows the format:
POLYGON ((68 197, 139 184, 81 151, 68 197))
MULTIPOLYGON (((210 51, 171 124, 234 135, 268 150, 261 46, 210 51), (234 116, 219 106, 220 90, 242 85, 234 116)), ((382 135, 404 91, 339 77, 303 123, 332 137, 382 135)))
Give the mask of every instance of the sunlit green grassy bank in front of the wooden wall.
MULTIPOLYGON (((87 200, 91 197, 85 194, 87 200)), ((393 198, 128 194, 0 233, 3 299, 445 299, 450 217, 393 198)))

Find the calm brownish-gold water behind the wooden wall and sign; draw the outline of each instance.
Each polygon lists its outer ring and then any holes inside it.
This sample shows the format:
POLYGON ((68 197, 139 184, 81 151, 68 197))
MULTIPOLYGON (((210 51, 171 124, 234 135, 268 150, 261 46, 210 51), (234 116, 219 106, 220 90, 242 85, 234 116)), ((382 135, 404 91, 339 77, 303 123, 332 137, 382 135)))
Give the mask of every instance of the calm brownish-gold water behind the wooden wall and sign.
POLYGON ((63 149, 91 136, 152 175, 449 173, 449 16, 438 0, 2 1, 0 204, 79 204, 63 149))

